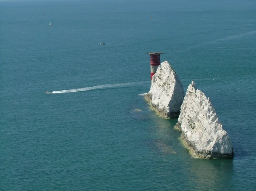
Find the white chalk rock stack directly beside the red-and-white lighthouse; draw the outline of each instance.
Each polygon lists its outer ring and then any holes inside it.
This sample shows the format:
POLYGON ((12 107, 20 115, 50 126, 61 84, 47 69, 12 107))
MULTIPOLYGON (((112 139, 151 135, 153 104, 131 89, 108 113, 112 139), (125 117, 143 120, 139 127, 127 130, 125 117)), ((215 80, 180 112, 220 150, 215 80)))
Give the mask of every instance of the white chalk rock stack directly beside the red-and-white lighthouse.
POLYGON ((164 118, 178 118, 185 93, 182 82, 167 61, 161 63, 152 77, 145 99, 164 118))

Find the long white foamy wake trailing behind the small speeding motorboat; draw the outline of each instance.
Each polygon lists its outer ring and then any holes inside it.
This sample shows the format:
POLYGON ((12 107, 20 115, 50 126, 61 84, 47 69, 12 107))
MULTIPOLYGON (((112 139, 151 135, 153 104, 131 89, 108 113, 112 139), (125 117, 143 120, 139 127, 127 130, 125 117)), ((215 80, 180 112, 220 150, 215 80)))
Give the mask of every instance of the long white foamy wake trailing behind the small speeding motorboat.
POLYGON ((86 87, 86 88, 53 91, 52 93, 73 93, 73 92, 89 91, 89 90, 96 90, 96 89, 138 86, 138 85, 147 84, 147 83, 150 83, 150 82, 145 81, 145 82, 127 82, 127 83, 104 84, 104 85, 98 85, 98 86, 92 86, 92 87, 86 87))

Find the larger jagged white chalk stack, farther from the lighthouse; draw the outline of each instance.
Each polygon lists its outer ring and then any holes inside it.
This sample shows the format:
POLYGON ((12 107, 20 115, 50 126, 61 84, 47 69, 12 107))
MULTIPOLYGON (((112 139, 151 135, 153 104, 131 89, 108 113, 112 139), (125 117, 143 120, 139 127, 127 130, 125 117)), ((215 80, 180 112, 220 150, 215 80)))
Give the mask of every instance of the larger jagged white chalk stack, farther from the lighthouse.
POLYGON ((228 133, 223 130, 209 98, 197 90, 192 81, 181 106, 178 123, 182 139, 200 158, 233 158, 233 145, 228 133))

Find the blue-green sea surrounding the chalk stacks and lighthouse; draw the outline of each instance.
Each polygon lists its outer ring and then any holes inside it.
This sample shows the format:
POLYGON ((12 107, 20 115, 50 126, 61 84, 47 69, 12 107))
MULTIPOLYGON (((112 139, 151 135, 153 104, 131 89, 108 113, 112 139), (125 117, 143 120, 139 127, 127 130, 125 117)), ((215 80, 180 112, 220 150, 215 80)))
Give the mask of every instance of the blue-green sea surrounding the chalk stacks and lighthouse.
POLYGON ((255 0, 0 1, 0 190, 256 190, 255 117, 255 0), (149 52, 210 98, 232 160, 150 109, 149 52))

